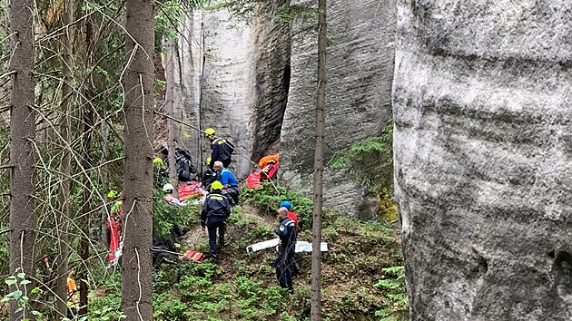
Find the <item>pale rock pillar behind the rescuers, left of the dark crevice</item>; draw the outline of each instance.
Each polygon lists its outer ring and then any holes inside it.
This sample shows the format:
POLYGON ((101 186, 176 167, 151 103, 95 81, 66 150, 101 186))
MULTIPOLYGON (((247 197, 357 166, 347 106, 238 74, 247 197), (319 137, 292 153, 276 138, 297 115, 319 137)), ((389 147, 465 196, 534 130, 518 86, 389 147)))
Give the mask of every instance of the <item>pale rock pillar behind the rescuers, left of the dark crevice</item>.
MULTIPOLYGON (((277 151, 290 77, 289 24, 276 17, 284 0, 265 2, 246 24, 225 9, 194 13, 178 44, 177 117, 213 127, 238 151, 231 165, 246 177, 261 155, 277 151)), ((195 163, 210 154, 198 131, 182 128, 195 163)))

